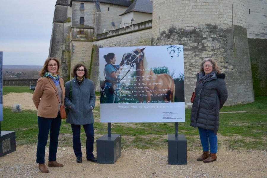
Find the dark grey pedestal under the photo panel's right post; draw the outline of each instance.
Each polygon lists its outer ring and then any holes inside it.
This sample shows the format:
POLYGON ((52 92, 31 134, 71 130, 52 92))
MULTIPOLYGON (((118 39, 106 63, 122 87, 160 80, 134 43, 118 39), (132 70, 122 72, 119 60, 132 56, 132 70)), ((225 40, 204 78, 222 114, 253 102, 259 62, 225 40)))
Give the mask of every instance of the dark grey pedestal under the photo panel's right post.
POLYGON ((168 135, 168 160, 169 165, 180 165, 187 163, 185 135, 168 135))

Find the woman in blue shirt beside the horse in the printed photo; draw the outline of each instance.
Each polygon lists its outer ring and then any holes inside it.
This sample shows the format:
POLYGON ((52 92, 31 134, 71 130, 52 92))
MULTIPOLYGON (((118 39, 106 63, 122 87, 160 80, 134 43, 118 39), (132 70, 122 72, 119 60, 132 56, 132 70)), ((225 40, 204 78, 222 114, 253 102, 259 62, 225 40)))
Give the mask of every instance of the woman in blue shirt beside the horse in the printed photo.
POLYGON ((105 79, 106 84, 104 92, 107 96, 107 103, 117 103, 118 101, 118 90, 120 89, 120 71, 124 60, 120 62, 119 65, 114 65, 116 63, 116 57, 114 53, 108 53, 104 55, 104 59, 107 64, 105 65, 105 79))

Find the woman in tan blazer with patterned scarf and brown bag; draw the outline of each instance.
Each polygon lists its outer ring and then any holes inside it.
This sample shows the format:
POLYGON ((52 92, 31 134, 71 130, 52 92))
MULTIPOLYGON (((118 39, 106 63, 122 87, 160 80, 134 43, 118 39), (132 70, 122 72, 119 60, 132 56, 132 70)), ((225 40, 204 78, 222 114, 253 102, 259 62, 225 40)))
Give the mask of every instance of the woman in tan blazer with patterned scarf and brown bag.
POLYGON ((61 126, 59 114, 60 104, 64 105, 65 88, 64 82, 59 76, 59 61, 53 57, 47 58, 38 79, 32 100, 37 108, 38 116, 38 144, 36 163, 42 173, 49 170, 45 166, 45 146, 50 131, 48 166, 63 167, 56 161, 58 148, 58 135, 61 126), (59 101, 58 101, 59 100, 59 101))

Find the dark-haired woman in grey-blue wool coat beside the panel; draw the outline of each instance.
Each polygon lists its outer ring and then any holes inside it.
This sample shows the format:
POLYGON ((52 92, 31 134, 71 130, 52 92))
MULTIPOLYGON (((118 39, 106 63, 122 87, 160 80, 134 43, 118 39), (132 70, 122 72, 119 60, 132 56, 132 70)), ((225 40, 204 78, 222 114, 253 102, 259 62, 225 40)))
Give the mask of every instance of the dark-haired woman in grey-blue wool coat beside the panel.
POLYGON ((87 79, 88 71, 83 64, 77 64, 72 71, 74 79, 65 85, 65 107, 69 109, 66 123, 71 124, 73 150, 77 163, 82 162, 81 148, 81 125, 86 134, 86 160, 96 162, 93 155, 94 150, 94 117, 93 109, 96 104, 96 95, 93 81, 87 79), (71 88, 71 100, 70 96, 71 88))

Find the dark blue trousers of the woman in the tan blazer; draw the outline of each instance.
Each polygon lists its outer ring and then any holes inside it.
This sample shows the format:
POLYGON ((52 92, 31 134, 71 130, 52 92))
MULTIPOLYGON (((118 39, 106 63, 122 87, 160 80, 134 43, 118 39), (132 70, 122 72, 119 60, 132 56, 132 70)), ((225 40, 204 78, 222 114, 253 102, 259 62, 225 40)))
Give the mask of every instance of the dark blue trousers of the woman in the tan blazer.
POLYGON ((56 118, 45 118, 38 116, 38 143, 36 152, 36 163, 45 163, 45 146, 47 144, 48 133, 50 130, 50 143, 49 143, 49 161, 55 161, 58 149, 58 135, 61 126, 61 116, 56 118))

